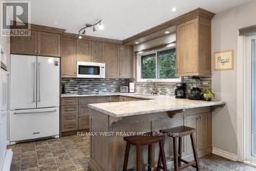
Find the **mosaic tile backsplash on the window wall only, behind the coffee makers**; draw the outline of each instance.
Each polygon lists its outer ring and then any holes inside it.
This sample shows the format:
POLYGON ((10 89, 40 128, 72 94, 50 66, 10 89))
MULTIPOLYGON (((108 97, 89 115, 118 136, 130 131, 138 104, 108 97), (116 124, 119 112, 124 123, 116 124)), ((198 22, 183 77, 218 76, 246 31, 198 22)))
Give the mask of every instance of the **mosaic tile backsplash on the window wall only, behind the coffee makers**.
MULTIPOLYGON (((195 79, 192 77, 183 77, 183 82, 186 83, 186 95, 188 95, 192 89, 193 81, 195 81, 195 79)), ((211 89, 211 77, 201 77, 197 82, 201 89, 211 89)), ((150 93, 152 89, 151 87, 151 82, 136 82, 135 92, 150 93)), ((176 84, 174 82, 153 82, 153 93, 155 94, 174 95, 175 89, 176 84)))

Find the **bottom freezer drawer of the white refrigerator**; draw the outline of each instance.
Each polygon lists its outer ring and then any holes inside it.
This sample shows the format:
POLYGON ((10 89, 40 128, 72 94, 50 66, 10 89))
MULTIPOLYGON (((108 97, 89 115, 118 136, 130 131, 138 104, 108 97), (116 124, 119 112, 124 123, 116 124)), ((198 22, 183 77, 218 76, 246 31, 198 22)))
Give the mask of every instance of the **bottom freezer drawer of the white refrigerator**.
POLYGON ((59 108, 11 111, 11 141, 59 135, 59 108))

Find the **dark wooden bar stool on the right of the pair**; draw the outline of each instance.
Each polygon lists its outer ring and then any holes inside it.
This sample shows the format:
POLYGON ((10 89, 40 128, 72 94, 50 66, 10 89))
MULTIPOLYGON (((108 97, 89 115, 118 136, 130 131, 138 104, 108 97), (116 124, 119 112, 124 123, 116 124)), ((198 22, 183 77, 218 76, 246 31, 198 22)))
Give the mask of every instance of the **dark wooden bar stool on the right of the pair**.
POLYGON ((194 137, 195 131, 196 130, 193 127, 188 127, 188 126, 178 126, 172 129, 160 130, 160 133, 173 138, 174 170, 175 171, 179 171, 180 169, 183 169, 189 166, 195 167, 198 171, 200 170, 197 149, 196 149, 196 141, 194 137), (182 159, 182 137, 188 136, 188 135, 190 136, 190 139, 191 139, 193 154, 195 158, 195 161, 193 162, 188 162, 182 159), (178 143, 178 140, 179 140, 179 143, 178 143), (177 146, 178 146, 178 149, 177 149, 177 146), (185 164, 182 165, 181 162, 185 164))

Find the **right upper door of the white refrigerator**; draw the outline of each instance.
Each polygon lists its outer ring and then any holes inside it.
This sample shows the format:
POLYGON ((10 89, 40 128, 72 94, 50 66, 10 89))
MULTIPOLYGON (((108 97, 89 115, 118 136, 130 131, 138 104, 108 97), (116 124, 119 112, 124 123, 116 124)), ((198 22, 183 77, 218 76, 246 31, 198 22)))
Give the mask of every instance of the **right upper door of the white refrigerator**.
POLYGON ((37 57, 37 108, 59 106, 60 59, 37 57))

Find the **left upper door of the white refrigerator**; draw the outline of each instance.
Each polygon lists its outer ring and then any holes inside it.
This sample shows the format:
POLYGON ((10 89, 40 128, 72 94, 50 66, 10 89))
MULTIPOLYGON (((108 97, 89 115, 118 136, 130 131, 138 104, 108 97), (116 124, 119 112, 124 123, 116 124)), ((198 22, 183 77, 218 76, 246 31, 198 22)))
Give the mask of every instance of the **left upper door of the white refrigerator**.
POLYGON ((11 109, 36 108, 36 56, 11 55, 11 109))

